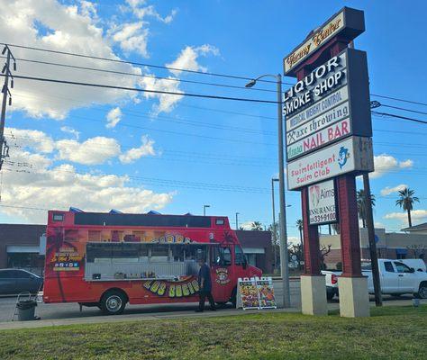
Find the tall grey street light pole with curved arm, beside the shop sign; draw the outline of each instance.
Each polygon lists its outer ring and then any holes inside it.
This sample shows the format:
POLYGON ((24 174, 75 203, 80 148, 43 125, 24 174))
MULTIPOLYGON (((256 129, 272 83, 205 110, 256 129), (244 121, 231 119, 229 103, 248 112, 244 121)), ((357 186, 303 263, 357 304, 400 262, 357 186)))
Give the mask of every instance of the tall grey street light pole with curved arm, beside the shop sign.
POLYGON ((282 115, 282 76, 263 75, 250 80, 246 87, 252 87, 261 77, 273 76, 277 82, 277 136, 278 136, 278 184, 280 196, 280 268, 283 282, 283 307, 291 306, 289 290, 289 267, 287 258, 287 234, 286 234, 286 201, 285 201, 285 155, 283 151, 283 115, 282 115))

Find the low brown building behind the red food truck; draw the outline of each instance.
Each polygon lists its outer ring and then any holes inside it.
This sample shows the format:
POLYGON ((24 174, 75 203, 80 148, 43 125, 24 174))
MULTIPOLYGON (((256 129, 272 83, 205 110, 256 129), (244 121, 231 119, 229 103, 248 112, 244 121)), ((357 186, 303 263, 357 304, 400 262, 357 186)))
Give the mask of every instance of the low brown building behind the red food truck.
MULTIPOLYGON (((41 275, 46 248, 46 225, 0 224, 0 268, 15 267, 41 275)), ((273 272, 270 231, 238 230, 237 237, 250 265, 273 272)))

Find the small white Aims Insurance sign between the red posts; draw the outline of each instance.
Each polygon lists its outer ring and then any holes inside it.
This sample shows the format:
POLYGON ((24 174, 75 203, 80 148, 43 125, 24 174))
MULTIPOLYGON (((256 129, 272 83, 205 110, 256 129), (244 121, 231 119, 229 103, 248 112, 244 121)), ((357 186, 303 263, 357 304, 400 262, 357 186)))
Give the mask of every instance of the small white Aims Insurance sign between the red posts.
POLYGON ((310 225, 336 222, 337 205, 333 180, 308 186, 308 216, 310 225))

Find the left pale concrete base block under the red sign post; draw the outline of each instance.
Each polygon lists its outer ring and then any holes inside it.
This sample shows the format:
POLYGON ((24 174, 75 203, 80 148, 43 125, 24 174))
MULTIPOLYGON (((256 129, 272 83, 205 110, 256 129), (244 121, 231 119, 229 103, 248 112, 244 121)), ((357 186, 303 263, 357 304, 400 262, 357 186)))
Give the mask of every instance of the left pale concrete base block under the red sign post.
POLYGON ((328 315, 324 275, 301 275, 301 305, 304 315, 328 315))

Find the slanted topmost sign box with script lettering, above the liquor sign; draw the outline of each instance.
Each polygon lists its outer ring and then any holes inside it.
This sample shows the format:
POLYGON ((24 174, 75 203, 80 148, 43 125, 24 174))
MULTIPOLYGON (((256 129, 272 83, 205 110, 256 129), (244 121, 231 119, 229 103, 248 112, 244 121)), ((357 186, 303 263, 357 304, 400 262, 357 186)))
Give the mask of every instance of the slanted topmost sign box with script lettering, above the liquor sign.
POLYGON ((295 76, 295 68, 335 36, 354 39, 363 31, 365 31, 363 12, 348 7, 342 8, 316 31, 312 31, 302 44, 283 59, 285 75, 295 76))

